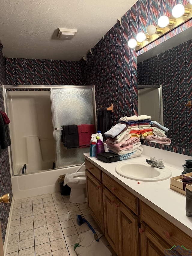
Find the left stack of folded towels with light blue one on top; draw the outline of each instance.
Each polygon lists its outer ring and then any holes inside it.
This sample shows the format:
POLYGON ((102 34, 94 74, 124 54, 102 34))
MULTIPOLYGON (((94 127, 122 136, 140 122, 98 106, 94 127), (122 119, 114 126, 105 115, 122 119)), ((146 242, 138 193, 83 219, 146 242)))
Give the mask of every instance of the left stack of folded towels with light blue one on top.
POLYGON ((137 157, 143 152, 140 135, 135 132, 137 130, 132 131, 134 133, 127 128, 127 124, 119 123, 105 132, 108 151, 118 154, 119 160, 137 157))

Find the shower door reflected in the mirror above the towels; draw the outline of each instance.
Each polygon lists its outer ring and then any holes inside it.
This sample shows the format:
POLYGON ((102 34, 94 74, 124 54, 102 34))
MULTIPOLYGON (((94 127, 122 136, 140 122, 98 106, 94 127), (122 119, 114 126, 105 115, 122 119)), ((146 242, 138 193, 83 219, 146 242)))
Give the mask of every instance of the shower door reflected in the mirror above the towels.
POLYGON ((163 125, 162 85, 140 85, 138 88, 138 115, 151 116, 163 125))

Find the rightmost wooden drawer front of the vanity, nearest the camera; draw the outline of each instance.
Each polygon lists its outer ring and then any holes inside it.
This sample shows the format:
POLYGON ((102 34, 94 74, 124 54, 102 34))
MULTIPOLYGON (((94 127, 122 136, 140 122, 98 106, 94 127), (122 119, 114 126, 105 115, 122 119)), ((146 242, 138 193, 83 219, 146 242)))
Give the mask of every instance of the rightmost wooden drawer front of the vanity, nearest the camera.
MULTIPOLYGON (((140 200, 140 217, 170 245, 192 249, 192 238, 140 200)), ((170 247, 171 248, 171 247, 170 247)))

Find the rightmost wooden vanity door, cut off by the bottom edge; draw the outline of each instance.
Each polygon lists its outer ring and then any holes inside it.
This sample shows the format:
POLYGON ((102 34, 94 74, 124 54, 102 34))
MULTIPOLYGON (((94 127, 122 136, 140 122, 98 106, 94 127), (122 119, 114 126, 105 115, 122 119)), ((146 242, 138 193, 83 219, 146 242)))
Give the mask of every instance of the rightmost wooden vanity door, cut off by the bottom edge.
POLYGON ((139 233, 141 256, 181 255, 174 254, 174 252, 172 251, 170 254, 167 254, 167 249, 170 249, 173 245, 170 246, 169 244, 167 244, 167 242, 165 242, 160 236, 158 236, 158 234, 155 233, 144 222, 141 222, 139 233))

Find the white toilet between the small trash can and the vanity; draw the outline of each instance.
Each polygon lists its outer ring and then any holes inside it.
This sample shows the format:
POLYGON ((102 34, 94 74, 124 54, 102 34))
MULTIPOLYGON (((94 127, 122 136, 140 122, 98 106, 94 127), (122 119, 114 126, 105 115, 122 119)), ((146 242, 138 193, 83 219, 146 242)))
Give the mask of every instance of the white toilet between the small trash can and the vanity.
MULTIPOLYGON (((85 170, 85 166, 81 169, 85 170)), ((67 186, 71 188, 69 202, 71 203, 85 203, 87 202, 86 196, 86 177, 85 171, 71 173, 74 179, 79 179, 78 183, 68 182, 67 186)))

